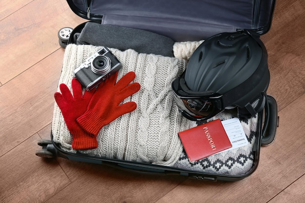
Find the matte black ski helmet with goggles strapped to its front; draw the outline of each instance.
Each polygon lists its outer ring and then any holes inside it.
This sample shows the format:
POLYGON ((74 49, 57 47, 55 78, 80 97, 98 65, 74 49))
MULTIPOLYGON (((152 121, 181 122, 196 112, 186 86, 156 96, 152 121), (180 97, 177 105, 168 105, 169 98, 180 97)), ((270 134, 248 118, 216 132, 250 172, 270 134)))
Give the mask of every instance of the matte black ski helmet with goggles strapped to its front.
MULTIPOLYGON (((172 89, 176 101, 183 100, 187 107, 182 109, 184 113, 194 114, 192 120, 208 119, 235 106, 239 116, 249 117, 264 108, 269 80, 263 42, 255 33, 239 31, 205 40, 191 55, 185 73, 173 81, 172 89), (206 104, 210 109, 205 114, 206 104)), ((181 101, 178 103, 181 107, 181 101)))

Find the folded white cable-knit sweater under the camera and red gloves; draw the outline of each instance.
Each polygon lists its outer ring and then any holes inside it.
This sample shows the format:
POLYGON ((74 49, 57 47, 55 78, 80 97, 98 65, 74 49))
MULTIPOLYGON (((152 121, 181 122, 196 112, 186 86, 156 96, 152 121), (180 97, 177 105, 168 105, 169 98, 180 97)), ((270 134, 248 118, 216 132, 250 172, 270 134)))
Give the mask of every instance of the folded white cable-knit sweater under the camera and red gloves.
MULTIPOLYGON (((73 71, 100 48, 68 45, 59 84, 65 83, 71 89, 73 71)), ((191 121, 179 113, 171 91, 172 80, 182 74, 186 61, 161 55, 138 54, 133 50, 110 50, 123 65, 118 79, 130 71, 136 74, 133 82, 140 83, 141 89, 123 102, 134 101, 137 109, 104 126, 97 137, 98 148, 80 152, 172 166, 183 149, 177 133, 189 129, 191 125, 191 121)), ((73 137, 56 103, 52 133, 54 141, 60 143, 65 151, 76 152, 72 149, 73 137)))

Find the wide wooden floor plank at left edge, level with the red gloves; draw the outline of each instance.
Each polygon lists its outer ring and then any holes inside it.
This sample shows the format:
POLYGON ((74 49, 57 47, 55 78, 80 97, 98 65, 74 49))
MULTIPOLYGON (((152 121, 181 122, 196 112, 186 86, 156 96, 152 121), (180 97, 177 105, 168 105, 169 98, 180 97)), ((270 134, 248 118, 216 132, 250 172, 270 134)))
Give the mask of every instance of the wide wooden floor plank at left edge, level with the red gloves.
POLYGON ((52 121, 64 50, 0 87, 0 156, 52 121))

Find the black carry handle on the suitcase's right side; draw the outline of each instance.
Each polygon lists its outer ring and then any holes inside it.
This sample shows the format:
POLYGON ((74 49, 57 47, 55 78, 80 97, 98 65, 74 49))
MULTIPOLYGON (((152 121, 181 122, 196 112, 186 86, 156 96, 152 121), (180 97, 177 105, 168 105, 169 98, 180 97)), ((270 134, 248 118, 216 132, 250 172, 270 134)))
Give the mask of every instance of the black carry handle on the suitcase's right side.
POLYGON ((276 100, 267 95, 265 107, 265 124, 262 133, 262 145, 270 145, 275 140, 276 128, 279 127, 279 116, 277 113, 276 100))

